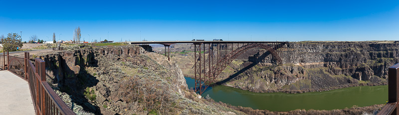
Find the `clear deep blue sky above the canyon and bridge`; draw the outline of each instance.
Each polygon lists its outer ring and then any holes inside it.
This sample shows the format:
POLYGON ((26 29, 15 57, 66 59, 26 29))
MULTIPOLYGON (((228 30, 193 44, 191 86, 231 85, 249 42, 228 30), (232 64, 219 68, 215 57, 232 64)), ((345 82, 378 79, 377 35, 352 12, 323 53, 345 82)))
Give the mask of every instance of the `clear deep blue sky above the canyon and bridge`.
POLYGON ((22 40, 399 40, 399 0, 0 0, 22 40), (47 38, 48 36, 49 38, 47 38))

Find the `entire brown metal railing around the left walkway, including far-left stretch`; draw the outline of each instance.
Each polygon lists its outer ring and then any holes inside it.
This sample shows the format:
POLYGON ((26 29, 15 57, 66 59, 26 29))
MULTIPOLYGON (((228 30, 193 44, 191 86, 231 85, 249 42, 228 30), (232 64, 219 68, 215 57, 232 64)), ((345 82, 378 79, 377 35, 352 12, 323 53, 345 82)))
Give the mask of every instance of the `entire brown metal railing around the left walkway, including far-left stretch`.
POLYGON ((29 52, 24 58, 9 56, 8 52, 0 56, 0 70, 8 70, 28 82, 36 115, 76 115, 46 82, 45 62, 35 58, 34 63, 29 60, 29 52))

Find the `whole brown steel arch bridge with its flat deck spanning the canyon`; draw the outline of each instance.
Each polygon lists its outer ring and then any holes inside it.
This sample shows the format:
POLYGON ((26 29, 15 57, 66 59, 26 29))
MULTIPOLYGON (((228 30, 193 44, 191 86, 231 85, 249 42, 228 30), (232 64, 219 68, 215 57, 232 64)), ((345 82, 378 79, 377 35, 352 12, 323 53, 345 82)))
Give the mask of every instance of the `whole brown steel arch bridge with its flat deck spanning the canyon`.
POLYGON ((249 49, 258 47, 265 49, 272 54, 275 64, 282 64, 281 52, 277 49, 282 48, 288 42, 273 41, 139 41, 130 44, 163 44, 165 46, 165 56, 169 57, 169 47, 176 43, 194 44, 194 78, 195 91, 201 95, 206 88, 215 82, 215 78, 229 65, 234 59, 249 49), (168 50, 166 49, 168 47, 168 50))

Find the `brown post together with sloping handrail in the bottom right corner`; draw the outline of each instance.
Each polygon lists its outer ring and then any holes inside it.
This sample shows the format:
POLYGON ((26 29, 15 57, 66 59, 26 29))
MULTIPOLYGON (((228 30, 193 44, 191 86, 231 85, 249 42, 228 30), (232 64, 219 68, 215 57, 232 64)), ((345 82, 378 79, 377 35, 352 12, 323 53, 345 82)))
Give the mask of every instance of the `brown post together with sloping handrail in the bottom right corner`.
POLYGON ((399 115, 399 63, 388 69, 388 103, 377 115, 399 115))

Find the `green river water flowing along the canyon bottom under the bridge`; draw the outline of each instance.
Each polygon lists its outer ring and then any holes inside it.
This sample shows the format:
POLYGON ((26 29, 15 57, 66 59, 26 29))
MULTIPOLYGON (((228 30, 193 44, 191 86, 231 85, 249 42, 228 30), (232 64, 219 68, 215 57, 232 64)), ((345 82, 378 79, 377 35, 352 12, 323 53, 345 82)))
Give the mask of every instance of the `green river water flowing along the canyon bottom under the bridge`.
MULTIPOLYGON (((185 77, 189 88, 194 79, 185 77)), ((201 96, 209 95, 214 101, 233 106, 251 107, 275 112, 305 110, 333 110, 385 104, 388 100, 388 86, 360 86, 324 92, 302 94, 253 93, 223 85, 212 87, 201 96)))

